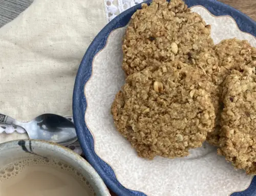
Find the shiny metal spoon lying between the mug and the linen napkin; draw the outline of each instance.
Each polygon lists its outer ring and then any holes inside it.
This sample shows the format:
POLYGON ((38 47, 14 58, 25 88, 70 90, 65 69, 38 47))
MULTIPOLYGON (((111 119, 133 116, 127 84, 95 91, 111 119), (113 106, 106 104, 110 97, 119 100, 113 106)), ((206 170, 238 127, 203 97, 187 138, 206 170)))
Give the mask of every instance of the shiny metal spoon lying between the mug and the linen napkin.
POLYGON ((47 140, 64 146, 77 140, 74 124, 56 114, 42 114, 30 122, 19 122, 0 114, 0 122, 24 128, 30 139, 47 140))

